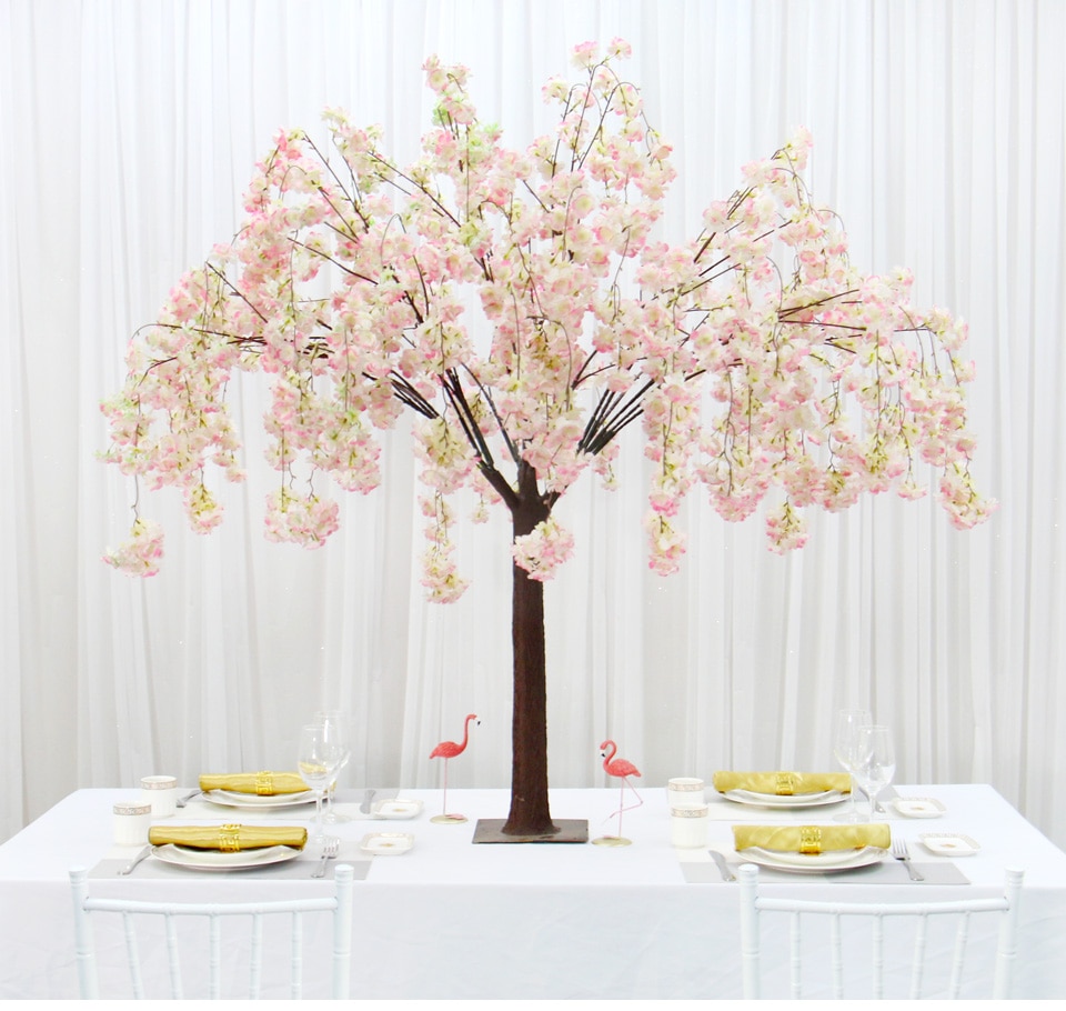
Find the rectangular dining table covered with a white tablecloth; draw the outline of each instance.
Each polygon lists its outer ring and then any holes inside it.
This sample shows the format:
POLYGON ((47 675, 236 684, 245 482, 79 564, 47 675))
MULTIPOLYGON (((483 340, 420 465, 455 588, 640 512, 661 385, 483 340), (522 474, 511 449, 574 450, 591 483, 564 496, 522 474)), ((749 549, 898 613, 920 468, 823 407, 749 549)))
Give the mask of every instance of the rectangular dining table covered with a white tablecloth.
MULTIPOLYGON (((721 850, 735 865, 733 824, 829 824, 841 808, 767 810, 725 801, 708 785, 708 848, 682 850, 670 843, 665 789, 638 790, 643 803, 623 815, 621 834, 631 840, 625 847, 474 844, 479 818, 506 814, 506 790, 449 791, 449 809, 469 818, 459 824, 431 821, 441 813, 440 791, 402 791, 402 798, 422 802, 415 817, 403 820, 362 811, 361 790, 342 793, 338 812, 350 820, 331 831, 342 840, 339 860, 356 869, 352 997, 738 997, 737 887, 722 880, 707 850, 721 850), (410 835, 410 849, 401 847, 393 855, 364 852, 361 841, 381 832, 410 835)), ((897 792, 932 798, 945 809, 938 818, 917 819, 901 817, 889 805, 883 815, 911 842, 919 868, 929 871, 926 882, 911 882, 889 858, 839 873, 764 870, 767 891, 872 901, 989 897, 1000 893, 1004 868, 1019 867, 1025 885, 1014 994, 1066 997, 1066 853, 988 785, 899 787, 897 792), (965 858, 933 855, 921 835, 934 831, 964 834, 977 850, 965 858)), ((203 871, 149 858, 120 877, 117 868, 135 848, 113 844, 111 810, 131 795, 135 791, 78 790, 0 847, 0 997, 77 997, 67 877, 74 865, 90 869, 91 892, 139 899, 282 899, 331 888, 329 875, 310 877, 313 847, 285 863, 251 871, 203 871)), ((551 803, 555 818, 587 819, 591 838, 616 833, 611 814, 619 805, 617 789, 557 789, 551 803)), ((310 825, 312 819, 313 807, 248 812, 198 799, 157 823, 310 825)), ((306 942, 322 948, 329 927, 316 930, 309 931, 306 942)), ((102 995, 129 995, 117 931, 97 929, 102 995)), ((987 961, 994 928, 975 927, 972 933, 974 958, 987 961)), ((286 995, 281 963, 288 971, 288 952, 268 963, 264 995, 286 995)), ((164 965, 159 979, 151 968, 148 974, 149 994, 158 989, 164 995, 164 965)), ((787 985, 786 970, 778 974, 764 995, 787 985)), ((324 979, 312 979, 306 995, 324 995, 324 979)))

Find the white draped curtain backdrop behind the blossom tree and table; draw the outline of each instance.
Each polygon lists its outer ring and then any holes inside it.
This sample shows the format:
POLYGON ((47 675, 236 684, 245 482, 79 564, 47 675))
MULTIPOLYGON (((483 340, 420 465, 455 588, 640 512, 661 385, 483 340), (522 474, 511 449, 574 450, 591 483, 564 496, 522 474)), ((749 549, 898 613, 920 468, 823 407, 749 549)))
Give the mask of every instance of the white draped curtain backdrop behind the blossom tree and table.
POLYGON ((340 106, 406 161, 439 53, 524 147, 550 126, 541 83, 615 36, 675 148, 664 238, 804 124, 853 260, 913 267, 921 304, 969 320, 976 474, 1002 508, 959 533, 933 497, 881 497, 813 517, 778 558, 760 520, 697 494, 684 567, 660 579, 627 433, 621 490, 586 478, 557 509, 577 555, 547 585, 552 783, 603 784, 609 737, 647 789, 833 768, 834 712, 863 704, 895 731, 898 781, 992 782, 1066 843, 1060 0, 0 0, 0 839, 78 787, 291 768, 323 708, 352 720, 349 785, 436 784, 430 751, 467 712, 482 725, 450 782, 507 784, 505 515, 460 531, 466 595, 424 602, 401 428, 324 550, 268 543, 263 390, 244 378, 250 481, 205 538, 142 490, 167 558, 131 580, 100 560, 133 488, 97 460, 98 404, 133 331, 238 227, 279 127, 340 106))

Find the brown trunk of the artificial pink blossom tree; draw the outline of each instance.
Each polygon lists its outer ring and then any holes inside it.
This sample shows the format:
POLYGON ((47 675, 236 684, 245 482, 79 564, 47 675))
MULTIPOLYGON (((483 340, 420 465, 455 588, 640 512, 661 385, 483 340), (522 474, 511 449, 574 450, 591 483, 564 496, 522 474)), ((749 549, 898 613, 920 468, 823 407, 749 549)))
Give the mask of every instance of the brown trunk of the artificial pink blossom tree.
MULTIPOLYGON (((536 472, 519 468, 512 506, 515 537, 547 519, 550 507, 536 487, 536 472)), ((547 677, 544 650, 544 583, 513 565, 511 641, 514 650, 514 708, 511 717, 511 811, 505 835, 553 835, 547 807, 547 677)))

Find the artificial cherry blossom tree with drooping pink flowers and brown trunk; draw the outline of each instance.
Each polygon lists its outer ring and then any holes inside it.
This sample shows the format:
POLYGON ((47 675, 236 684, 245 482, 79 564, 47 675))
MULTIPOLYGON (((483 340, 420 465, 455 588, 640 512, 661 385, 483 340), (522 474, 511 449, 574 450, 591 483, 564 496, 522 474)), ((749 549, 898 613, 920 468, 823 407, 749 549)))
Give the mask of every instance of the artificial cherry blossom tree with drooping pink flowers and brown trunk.
MULTIPOLYGON (((378 484, 376 431, 404 408, 420 416, 430 597, 464 589, 456 492, 512 518, 511 835, 554 831, 543 592, 573 538, 553 508, 589 468, 612 483, 624 429, 643 429, 661 573, 678 567, 675 517, 697 482, 727 520, 770 496, 776 551, 804 543, 809 507, 924 494, 927 464, 957 527, 992 508, 971 482, 965 326, 912 307, 907 272, 851 266, 836 216, 803 182, 805 132, 746 166, 690 241, 657 239, 674 169, 620 77, 627 54, 617 40, 605 56, 579 47, 580 80, 544 88, 555 129, 525 151, 479 119, 467 70, 436 59, 424 68, 434 121, 411 166, 336 110, 328 149, 279 133, 243 227, 178 282, 103 404, 107 459, 180 488, 202 533, 221 520, 208 464, 242 477, 227 390, 237 372, 264 372, 278 471, 266 535, 309 548, 336 529, 331 486, 378 484)), ((160 528, 134 508, 132 539, 108 561, 151 575, 161 555, 160 528)))

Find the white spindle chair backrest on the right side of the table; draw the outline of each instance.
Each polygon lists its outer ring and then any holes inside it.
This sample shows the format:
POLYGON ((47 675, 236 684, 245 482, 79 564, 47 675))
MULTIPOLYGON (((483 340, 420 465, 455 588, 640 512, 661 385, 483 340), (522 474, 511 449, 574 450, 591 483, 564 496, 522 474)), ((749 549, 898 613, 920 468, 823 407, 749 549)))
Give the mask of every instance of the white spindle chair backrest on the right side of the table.
MULTIPOLYGON (((871 992, 865 994, 866 997, 881 999, 885 995, 886 951, 887 957, 893 958, 899 954, 901 950, 909 949, 906 951, 908 965, 903 968, 902 973, 894 969, 892 961, 888 962, 887 972, 893 981, 901 974, 909 980, 908 993, 893 995, 918 999, 923 993, 923 982, 933 974, 934 964, 943 965, 943 962, 949 959, 949 979, 944 971, 944 979, 936 981, 937 988, 946 992, 936 995, 955 999, 963 983, 964 971, 973 968, 967 967, 965 961, 967 943, 971 940, 971 920, 975 915, 984 914, 998 918, 990 995, 995 999, 1009 997, 1010 971, 1016 957, 1018 898, 1024 877, 1019 870, 1006 871, 1006 885, 999 898, 899 903, 771 899, 758 892, 758 868, 744 864, 738 869, 738 877, 741 961, 745 998, 757 999, 762 995, 761 955, 765 952, 761 951, 764 925, 761 923, 761 915, 767 912, 787 914, 790 989, 793 998, 800 999, 804 995, 805 968, 813 973, 817 967, 828 963, 832 997, 842 1000, 844 967, 847 964, 854 968, 857 948, 859 951, 869 951, 871 960, 868 963, 864 961, 862 970, 862 974, 871 980, 871 992), (859 920, 867 921, 868 930, 861 929, 859 920), (934 922, 935 938, 932 937, 934 922), (889 923, 895 929, 886 944, 889 923), (951 927, 955 928, 953 938, 947 932, 951 927), (942 931, 942 928, 945 930, 942 931), (869 967, 868 970, 865 965, 869 967)), ((971 962, 974 961, 972 958, 971 962)), ((983 964, 978 968, 987 970, 987 960, 979 961, 983 964)), ((824 968, 822 974, 824 978, 824 968)))

